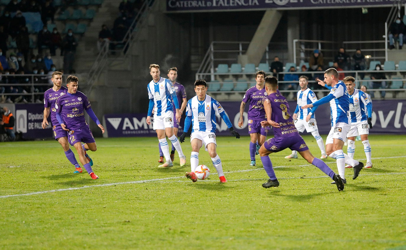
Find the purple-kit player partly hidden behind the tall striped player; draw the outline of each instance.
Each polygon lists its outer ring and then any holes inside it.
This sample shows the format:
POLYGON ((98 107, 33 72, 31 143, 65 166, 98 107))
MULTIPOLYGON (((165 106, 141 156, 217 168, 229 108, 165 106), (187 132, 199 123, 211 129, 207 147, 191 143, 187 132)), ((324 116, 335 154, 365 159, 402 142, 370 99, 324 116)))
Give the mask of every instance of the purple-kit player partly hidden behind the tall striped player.
MULTIPOLYGON (((182 115, 183 111, 186 108, 186 103, 188 102, 188 100, 186 99, 185 87, 182 84, 176 82, 177 76, 178 75, 177 75, 177 68, 176 67, 170 68, 168 70, 168 80, 172 82, 173 88, 175 88, 176 97, 177 97, 178 103, 180 105, 179 112, 180 112, 180 115, 182 115)), ((173 105, 173 114, 174 114, 173 115, 173 134, 175 136, 177 136, 180 121, 178 121, 176 116, 175 116, 175 114, 176 114, 175 105, 173 105)), ((158 146, 159 146, 159 156, 160 156, 158 162, 159 163, 164 163, 164 153, 162 152, 161 144, 158 143, 158 146)), ((170 158, 171 158, 171 161, 175 160, 175 146, 173 144, 172 144, 172 151, 171 151, 170 158)))

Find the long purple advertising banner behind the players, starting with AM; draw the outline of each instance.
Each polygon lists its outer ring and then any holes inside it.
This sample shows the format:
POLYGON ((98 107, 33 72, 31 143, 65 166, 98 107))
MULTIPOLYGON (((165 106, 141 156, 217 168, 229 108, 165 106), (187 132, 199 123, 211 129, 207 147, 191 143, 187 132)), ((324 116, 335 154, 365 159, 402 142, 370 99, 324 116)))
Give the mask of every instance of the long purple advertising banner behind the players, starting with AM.
MULTIPOLYGON (((248 135, 248 119, 246 107, 244 112, 244 124, 238 127, 240 118, 241 102, 220 102, 228 114, 235 130, 241 135, 248 135)), ((289 101, 291 113, 296 108, 296 102, 289 101)), ((108 137, 131 137, 131 136, 156 136, 152 125, 147 125, 147 114, 106 114, 104 124, 108 137)), ((328 134, 331 128, 330 105, 324 104, 316 111, 317 127, 320 134, 328 134)), ((183 119, 180 123, 179 133, 182 132, 183 119)), ((373 129, 370 134, 406 134, 406 100, 374 100, 372 112, 373 129)), ((224 121, 217 116, 217 135, 230 136, 230 132, 224 121)), ((272 134, 272 130, 269 132, 272 134)))

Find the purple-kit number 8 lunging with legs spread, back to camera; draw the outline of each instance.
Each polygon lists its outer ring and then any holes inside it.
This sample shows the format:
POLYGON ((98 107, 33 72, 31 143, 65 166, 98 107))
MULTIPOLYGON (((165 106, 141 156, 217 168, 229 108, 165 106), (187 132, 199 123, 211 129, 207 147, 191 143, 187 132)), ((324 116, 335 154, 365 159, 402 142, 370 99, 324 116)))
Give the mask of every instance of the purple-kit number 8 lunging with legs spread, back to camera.
POLYGON ((340 175, 334 173, 326 163, 315 158, 310 153, 309 148, 295 127, 292 116, 290 116, 289 104, 286 98, 277 92, 278 80, 276 77, 268 76, 265 78, 265 90, 268 95, 263 100, 263 107, 266 112, 267 121, 262 121, 261 125, 271 125, 274 127, 274 138, 267 140, 259 149, 263 168, 269 176, 268 182, 263 183, 262 186, 264 188, 279 186, 279 181, 272 168, 269 154, 289 148, 298 151, 305 160, 330 176, 335 181, 339 191, 344 190, 344 184, 340 175))

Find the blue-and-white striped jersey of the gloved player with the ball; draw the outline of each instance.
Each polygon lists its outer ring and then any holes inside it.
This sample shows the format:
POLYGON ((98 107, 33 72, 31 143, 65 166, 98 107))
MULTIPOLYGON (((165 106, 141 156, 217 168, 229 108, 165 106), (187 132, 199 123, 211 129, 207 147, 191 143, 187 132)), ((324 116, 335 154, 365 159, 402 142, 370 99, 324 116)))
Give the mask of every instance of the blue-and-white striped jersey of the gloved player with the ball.
MULTIPOLYGON (((220 103, 207 94, 204 101, 199 101, 197 96, 194 96, 186 105, 186 116, 192 118, 192 132, 216 133, 216 113, 222 117, 225 116, 225 111, 220 103)), ((227 127, 232 127, 229 119, 226 120, 227 127)))

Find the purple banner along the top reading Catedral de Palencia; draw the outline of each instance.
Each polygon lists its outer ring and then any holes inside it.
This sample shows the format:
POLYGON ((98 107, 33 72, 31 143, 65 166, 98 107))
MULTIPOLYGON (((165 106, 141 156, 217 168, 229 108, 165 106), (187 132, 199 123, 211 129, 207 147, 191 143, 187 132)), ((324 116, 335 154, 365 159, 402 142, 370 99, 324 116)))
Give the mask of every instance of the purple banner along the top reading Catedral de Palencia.
POLYGON ((166 0, 166 11, 315 9, 392 6, 393 0, 166 0))

